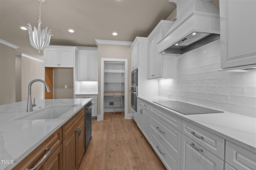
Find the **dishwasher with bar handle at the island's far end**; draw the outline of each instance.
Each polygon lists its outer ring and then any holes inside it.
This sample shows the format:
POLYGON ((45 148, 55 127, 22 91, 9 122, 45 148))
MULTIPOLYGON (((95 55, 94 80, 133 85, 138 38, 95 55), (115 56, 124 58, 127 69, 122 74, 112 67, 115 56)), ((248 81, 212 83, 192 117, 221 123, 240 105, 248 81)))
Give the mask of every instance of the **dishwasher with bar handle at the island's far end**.
POLYGON ((92 136, 92 106, 91 101, 85 106, 85 150, 92 136))

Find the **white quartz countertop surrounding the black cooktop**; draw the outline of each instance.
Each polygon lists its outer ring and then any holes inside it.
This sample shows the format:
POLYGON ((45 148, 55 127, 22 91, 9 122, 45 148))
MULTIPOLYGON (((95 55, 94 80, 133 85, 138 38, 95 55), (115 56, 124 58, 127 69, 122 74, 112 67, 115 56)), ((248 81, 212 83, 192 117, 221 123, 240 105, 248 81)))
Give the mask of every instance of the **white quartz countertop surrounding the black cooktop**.
MULTIPOLYGON (((185 121, 212 132, 230 142, 256 153, 256 119, 230 112, 184 115, 153 101, 172 100, 166 97, 138 97, 152 105, 168 111, 185 121)), ((212 108, 217 109, 218 108, 212 108)))

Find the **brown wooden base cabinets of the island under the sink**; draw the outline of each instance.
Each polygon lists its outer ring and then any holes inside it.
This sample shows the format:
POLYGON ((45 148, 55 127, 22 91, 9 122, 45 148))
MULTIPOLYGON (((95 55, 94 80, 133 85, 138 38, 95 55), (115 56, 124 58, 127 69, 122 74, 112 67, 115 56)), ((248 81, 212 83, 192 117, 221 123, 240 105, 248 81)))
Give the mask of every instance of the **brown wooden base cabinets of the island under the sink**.
POLYGON ((13 170, 78 170, 85 148, 84 113, 82 108, 13 170))

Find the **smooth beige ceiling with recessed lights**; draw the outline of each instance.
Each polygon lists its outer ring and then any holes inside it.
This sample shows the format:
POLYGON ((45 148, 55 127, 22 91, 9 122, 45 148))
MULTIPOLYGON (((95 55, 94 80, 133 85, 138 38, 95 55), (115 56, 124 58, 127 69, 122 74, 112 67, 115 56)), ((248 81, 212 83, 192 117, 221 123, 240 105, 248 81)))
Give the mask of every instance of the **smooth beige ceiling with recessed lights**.
MULTIPOLYGON (((168 0, 46 0, 41 29, 52 30, 50 45, 96 47, 95 39, 132 42, 136 36, 147 37, 175 8, 168 0), (75 32, 69 33, 70 28, 75 32)), ((30 45, 28 31, 20 29, 28 22, 37 28, 38 17, 38 0, 0 0, 0 39, 18 45, 16 52, 43 59, 30 45)))

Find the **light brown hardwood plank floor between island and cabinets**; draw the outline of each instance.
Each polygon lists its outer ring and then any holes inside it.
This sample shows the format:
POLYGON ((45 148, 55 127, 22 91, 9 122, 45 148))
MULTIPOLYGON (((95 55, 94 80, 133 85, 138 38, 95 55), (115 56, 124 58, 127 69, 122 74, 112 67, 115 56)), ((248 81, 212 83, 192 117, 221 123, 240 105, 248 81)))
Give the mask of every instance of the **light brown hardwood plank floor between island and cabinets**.
POLYGON ((132 119, 104 114, 92 119, 92 138, 79 170, 166 169, 132 119))

